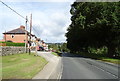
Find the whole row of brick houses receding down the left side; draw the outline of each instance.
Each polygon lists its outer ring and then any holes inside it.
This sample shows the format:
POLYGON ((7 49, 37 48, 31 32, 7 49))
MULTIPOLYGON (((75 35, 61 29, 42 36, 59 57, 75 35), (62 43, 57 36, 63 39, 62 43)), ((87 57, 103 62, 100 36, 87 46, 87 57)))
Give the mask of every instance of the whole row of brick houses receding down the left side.
POLYGON ((37 38, 35 35, 31 34, 25 30, 25 26, 20 26, 17 29, 13 29, 11 31, 5 32, 4 38, 2 41, 10 41, 14 43, 25 43, 27 41, 27 46, 29 47, 30 44, 29 41, 31 41, 31 46, 30 48, 35 49, 36 46, 41 46, 44 49, 48 49, 48 46, 44 43, 44 41, 40 38, 37 38), (27 33, 27 34, 26 34, 27 33), (31 40, 30 39, 31 36, 31 40))

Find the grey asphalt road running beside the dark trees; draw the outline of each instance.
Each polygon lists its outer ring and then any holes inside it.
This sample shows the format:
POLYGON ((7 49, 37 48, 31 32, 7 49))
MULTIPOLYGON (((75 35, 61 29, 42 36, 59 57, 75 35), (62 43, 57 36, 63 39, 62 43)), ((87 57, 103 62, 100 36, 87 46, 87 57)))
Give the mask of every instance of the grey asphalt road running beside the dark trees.
POLYGON ((118 79, 118 66, 63 53, 61 75, 61 79, 118 79))

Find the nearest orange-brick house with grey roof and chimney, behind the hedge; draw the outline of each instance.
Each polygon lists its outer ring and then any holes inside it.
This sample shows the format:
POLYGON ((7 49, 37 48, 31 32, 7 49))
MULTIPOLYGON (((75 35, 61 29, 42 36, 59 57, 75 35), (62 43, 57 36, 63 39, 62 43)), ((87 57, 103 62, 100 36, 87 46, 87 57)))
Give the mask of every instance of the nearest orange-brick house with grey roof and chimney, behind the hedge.
POLYGON ((26 37, 28 38, 28 35, 26 36, 25 33, 26 33, 25 26, 20 26, 17 29, 3 33, 4 34, 3 41, 11 41, 11 42, 15 42, 15 43, 25 43, 26 37))

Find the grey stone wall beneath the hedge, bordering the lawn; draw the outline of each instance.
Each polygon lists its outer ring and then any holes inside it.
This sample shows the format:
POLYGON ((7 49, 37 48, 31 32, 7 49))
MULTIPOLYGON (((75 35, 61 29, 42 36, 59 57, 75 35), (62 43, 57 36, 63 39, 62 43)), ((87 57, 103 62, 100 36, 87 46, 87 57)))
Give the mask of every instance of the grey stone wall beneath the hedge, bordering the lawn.
POLYGON ((25 53, 25 47, 1 46, 0 56, 25 53))

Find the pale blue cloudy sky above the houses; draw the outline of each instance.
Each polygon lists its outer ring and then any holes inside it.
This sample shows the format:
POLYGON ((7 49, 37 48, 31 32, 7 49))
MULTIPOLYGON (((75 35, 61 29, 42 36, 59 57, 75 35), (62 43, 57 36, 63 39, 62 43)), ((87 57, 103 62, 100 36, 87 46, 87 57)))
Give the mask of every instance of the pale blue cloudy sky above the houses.
MULTIPOLYGON (((18 0, 19 1, 19 0, 18 0)), ((45 42, 65 42, 65 33, 70 25, 71 1, 40 1, 40 2, 8 2, 7 5, 24 17, 33 16, 32 33, 45 42)), ((25 20, 0 3, 0 39, 3 32, 25 25, 25 20)), ((28 25, 29 30, 29 25, 28 25)))

